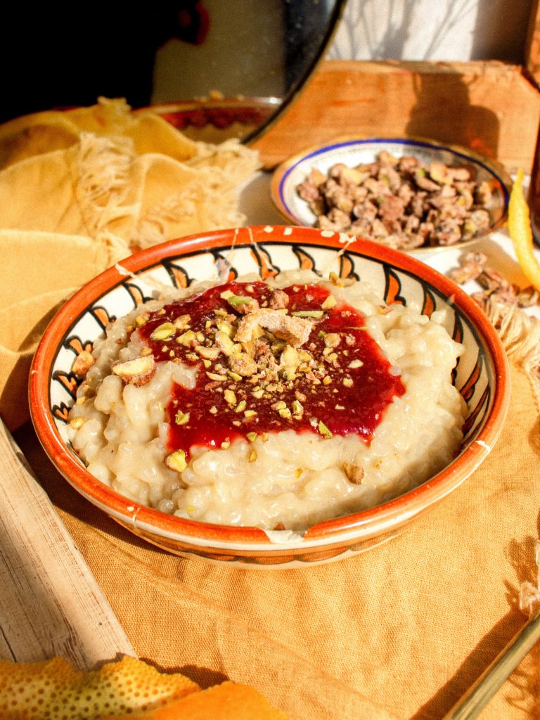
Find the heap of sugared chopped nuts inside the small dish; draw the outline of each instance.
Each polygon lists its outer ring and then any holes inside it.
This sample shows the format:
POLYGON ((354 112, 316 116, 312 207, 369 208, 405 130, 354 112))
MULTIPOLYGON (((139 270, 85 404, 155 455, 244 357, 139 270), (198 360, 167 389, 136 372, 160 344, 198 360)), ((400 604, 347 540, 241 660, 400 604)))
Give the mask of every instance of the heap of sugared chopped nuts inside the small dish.
POLYGON ((490 227, 492 187, 464 167, 382 151, 372 163, 313 168, 297 187, 323 230, 394 248, 453 245, 490 227))

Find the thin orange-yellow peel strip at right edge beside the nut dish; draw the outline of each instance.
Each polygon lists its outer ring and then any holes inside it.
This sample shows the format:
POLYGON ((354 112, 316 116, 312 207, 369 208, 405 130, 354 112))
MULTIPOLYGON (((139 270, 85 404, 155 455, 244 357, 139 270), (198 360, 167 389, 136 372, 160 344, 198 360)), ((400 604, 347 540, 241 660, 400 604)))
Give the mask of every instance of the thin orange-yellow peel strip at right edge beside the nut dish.
POLYGON ((540 263, 534 254, 533 231, 528 203, 523 194, 523 171, 516 174, 508 204, 508 233, 523 275, 540 292, 540 263))

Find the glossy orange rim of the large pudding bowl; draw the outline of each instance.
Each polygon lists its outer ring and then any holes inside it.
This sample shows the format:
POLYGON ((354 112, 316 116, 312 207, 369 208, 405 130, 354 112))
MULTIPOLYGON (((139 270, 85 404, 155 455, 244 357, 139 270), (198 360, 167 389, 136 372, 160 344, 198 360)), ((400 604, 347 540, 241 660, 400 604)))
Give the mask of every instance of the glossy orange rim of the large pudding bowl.
MULTIPOLYGON (((168 266, 170 271, 171 266, 168 266)), ((480 366, 477 370, 481 371, 480 366)), ((470 382, 477 382, 477 377, 472 377, 470 382)), ((508 388, 508 363, 494 328, 474 301, 437 271, 413 256, 366 240, 338 233, 323 233, 312 228, 261 226, 218 230, 171 240, 135 253, 122 261, 122 264, 104 271, 86 284, 63 305, 45 330, 30 373, 30 408, 37 436, 60 473, 91 503, 125 526, 132 527, 138 534, 148 531, 168 541, 181 539, 199 549, 220 548, 231 552, 243 549, 254 554, 271 554, 279 550, 284 554, 299 548, 338 546, 374 538, 389 531, 395 534, 400 526, 405 526, 411 518, 444 498, 480 465, 495 444, 508 408, 508 388), (290 247, 295 252, 303 248, 305 254, 300 254, 301 259, 309 256, 310 252, 316 253, 318 248, 343 251, 343 243, 350 243, 346 247, 346 255, 342 257, 366 258, 370 263, 380 264, 387 276, 387 297, 394 293, 395 299, 399 301, 399 284, 391 287, 398 274, 404 278, 411 277, 415 282, 420 279, 427 302, 432 302, 436 297, 443 301, 450 297, 460 318, 467 322, 474 338, 485 348, 482 368, 487 369, 491 376, 485 392, 489 396, 489 407, 482 405, 485 418, 480 423, 480 429, 448 467, 395 500, 376 508, 317 523, 308 528, 303 537, 294 534, 290 538, 284 536, 279 544, 270 537, 271 533, 266 534, 258 528, 217 526, 168 516, 119 495, 87 472, 68 449, 58 431, 59 420, 51 408, 51 386, 56 382, 53 366, 71 329, 91 308, 99 309, 99 301, 107 292, 131 282, 128 273, 138 274, 148 269, 161 268, 163 263, 168 264, 175 258, 184 258, 185 261, 190 256, 207 257, 209 253, 212 254, 212 262, 218 263, 224 258, 222 253, 230 252, 230 246, 234 244, 235 251, 243 247, 251 248, 250 252, 257 255, 264 276, 271 271, 269 252, 274 243, 276 246, 290 247)))

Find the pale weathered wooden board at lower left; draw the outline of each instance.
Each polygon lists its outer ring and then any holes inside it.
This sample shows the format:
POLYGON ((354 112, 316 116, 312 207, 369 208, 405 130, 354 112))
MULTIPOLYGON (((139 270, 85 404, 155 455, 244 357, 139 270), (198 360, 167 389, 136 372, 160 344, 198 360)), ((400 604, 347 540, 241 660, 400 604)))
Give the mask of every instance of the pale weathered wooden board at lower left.
POLYGON ((84 557, 0 421, 0 659, 81 670, 135 652, 84 557))

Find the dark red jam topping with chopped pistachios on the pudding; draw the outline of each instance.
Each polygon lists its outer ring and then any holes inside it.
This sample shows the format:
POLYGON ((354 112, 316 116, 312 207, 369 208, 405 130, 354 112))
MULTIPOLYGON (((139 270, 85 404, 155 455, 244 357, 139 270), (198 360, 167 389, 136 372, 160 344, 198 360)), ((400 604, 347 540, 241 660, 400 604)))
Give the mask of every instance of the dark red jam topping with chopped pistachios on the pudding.
MULTIPOLYGON (((337 276, 331 283, 343 284, 337 276)), ((405 387, 361 312, 329 288, 230 282, 145 317, 135 333, 150 354, 115 364, 116 374, 142 384, 162 361, 198 368, 195 387, 173 387, 168 467, 182 472, 196 445, 225 449, 235 438, 253 444, 287 429, 369 441, 405 387)), ((256 454, 255 446, 248 459, 256 454)))

